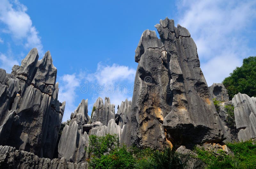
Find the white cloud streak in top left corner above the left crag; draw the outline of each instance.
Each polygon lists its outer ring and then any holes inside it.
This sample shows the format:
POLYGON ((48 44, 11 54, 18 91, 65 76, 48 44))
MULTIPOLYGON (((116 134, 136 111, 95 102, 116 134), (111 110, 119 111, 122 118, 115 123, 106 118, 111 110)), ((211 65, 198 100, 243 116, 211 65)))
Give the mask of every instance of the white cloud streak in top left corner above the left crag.
POLYGON ((42 55, 43 45, 26 11, 27 7, 20 4, 18 0, 12 3, 8 0, 0 0, 0 21, 6 26, 2 32, 10 33, 14 40, 24 40, 24 47, 27 49, 36 47, 42 55))

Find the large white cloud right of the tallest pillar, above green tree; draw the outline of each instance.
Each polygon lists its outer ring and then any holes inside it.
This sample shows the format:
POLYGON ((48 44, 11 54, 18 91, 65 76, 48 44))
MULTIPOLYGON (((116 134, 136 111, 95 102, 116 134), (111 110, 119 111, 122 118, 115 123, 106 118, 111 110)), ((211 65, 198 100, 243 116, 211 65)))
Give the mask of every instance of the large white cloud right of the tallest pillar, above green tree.
POLYGON ((256 1, 183 0, 177 6, 178 23, 195 40, 208 85, 221 82, 254 50, 246 33, 255 22, 256 1))

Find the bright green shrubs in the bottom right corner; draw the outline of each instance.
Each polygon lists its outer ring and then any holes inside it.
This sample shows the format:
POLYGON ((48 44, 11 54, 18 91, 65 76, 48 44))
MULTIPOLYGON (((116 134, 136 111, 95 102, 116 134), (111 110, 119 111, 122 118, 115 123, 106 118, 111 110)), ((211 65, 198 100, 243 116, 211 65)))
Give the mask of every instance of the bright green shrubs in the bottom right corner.
POLYGON ((194 151, 197 153, 198 158, 204 161, 208 169, 256 168, 256 145, 253 145, 252 141, 227 143, 227 146, 234 152, 234 155, 228 155, 223 150, 214 153, 198 147, 194 151))

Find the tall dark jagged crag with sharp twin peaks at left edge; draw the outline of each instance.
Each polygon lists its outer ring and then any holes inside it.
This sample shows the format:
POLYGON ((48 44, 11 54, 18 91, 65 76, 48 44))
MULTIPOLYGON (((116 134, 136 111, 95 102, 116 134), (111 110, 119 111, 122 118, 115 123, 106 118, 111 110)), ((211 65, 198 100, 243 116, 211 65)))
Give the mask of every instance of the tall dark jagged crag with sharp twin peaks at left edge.
POLYGON ((2 69, 0 74, 1 144, 52 158, 65 102, 58 101, 50 52, 38 61, 33 48, 11 74, 2 69))

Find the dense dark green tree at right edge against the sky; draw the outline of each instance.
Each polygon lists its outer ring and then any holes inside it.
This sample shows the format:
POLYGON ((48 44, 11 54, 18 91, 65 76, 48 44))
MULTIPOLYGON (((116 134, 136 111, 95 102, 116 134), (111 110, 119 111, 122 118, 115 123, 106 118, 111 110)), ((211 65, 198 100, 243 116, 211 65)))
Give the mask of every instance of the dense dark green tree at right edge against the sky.
POLYGON ((229 77, 223 80, 223 85, 228 90, 231 100, 238 92, 248 96, 256 96, 256 56, 250 56, 243 60, 241 67, 236 67, 229 77))

